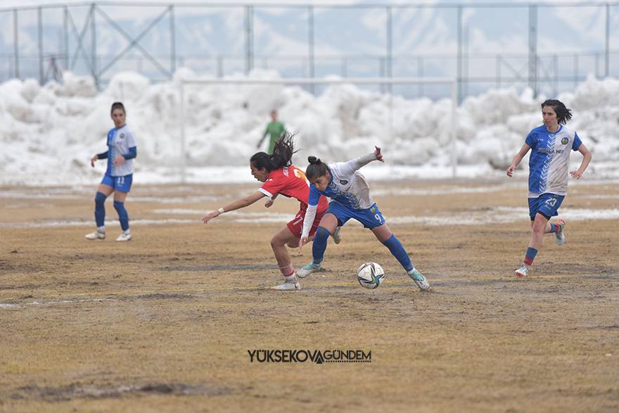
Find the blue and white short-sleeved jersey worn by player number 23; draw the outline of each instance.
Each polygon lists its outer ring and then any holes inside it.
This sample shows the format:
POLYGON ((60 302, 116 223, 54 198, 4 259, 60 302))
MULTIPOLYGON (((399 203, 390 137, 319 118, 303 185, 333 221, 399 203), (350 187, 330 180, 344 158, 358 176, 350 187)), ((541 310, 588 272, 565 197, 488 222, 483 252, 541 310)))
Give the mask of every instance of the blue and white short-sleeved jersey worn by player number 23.
POLYGON ((542 193, 565 196, 570 150, 577 151, 582 144, 576 132, 561 125, 552 133, 542 125, 529 132, 525 143, 531 147, 529 198, 537 198, 542 193))

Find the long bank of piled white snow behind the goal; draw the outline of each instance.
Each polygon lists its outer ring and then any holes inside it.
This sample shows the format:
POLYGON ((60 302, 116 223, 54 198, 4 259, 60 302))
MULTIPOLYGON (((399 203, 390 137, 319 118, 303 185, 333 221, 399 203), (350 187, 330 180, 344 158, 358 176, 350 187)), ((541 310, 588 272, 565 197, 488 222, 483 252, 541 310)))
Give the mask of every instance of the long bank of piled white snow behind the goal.
MULTIPOLYGON (((279 75, 256 70, 250 77, 279 75)), ((104 162, 93 169, 89 159, 106 150, 113 101, 125 103, 127 123, 136 132, 135 182, 178 182, 181 78, 196 74, 182 68, 171 82, 151 84, 136 73, 119 73, 100 92, 91 78, 70 72, 63 84, 39 86, 32 79, 0 84, 0 183, 73 185, 101 179, 104 162)), ((347 160, 377 145, 391 165, 381 170, 390 179, 451 174, 448 99, 390 99, 352 84, 327 87, 319 96, 281 85, 192 84, 185 96, 189 182, 250 182, 248 160, 272 108, 288 129, 298 132, 294 162, 300 167, 310 154, 327 162, 347 160), (229 173, 235 167, 243 174, 229 173)), ((568 127, 592 149, 592 171, 616 176, 603 165, 619 160, 619 81, 589 78, 573 93, 556 97, 574 110, 568 127)), ((490 165, 502 172, 530 129, 541 124, 544 99, 516 89, 466 99, 457 110, 457 157, 464 165, 459 174, 485 176, 490 165)), ((572 158, 575 167, 580 155, 572 158)))

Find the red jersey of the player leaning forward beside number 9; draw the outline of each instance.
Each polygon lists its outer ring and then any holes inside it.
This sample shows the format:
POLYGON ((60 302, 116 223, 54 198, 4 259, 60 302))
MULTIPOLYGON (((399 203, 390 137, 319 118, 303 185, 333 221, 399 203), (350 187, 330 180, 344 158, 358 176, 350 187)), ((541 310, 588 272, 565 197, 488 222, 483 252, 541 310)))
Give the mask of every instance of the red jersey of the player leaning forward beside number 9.
MULTIPOLYGON (((273 198, 278 193, 287 198, 296 198, 301 203, 301 209, 307 209, 309 181, 305 177, 305 172, 295 165, 271 171, 267 175, 267 182, 264 182, 259 191, 269 198, 273 198)), ((326 209, 327 207, 328 201, 324 196, 321 196, 318 201, 318 209, 326 209)))

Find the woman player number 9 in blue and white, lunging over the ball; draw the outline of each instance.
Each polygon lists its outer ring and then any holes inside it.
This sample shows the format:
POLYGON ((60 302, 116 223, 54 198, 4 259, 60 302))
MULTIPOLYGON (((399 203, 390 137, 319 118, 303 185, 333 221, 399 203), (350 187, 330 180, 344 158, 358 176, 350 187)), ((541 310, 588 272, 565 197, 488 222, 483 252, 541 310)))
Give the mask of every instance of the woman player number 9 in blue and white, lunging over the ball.
POLYGON ((319 197, 321 195, 328 196, 331 198, 331 202, 314 235, 312 262, 298 270, 298 277, 307 277, 320 269, 328 236, 333 234, 336 227, 341 227, 347 220, 353 218, 361 222, 364 227, 369 228, 378 241, 389 248, 395 259, 400 262, 421 291, 428 291, 430 289, 428 280, 415 269, 406 250, 385 223, 385 217, 378 210, 378 205, 372 201, 365 177, 358 171, 360 167, 373 160, 385 162, 381 148, 376 146, 376 151, 369 155, 330 165, 322 163, 315 156, 310 156, 307 160, 309 166, 305 174, 312 186, 309 189, 309 207, 305 213, 299 250, 309 239, 309 228, 317 212, 319 197))

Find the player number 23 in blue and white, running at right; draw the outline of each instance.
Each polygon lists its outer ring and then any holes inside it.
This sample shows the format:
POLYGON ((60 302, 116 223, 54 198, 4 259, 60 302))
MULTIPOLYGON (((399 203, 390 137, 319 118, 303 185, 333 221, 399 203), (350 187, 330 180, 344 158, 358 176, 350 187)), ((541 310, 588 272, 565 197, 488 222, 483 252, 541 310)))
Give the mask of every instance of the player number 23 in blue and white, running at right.
POLYGON ((580 167, 570 172, 573 178, 580 179, 591 162, 591 152, 582 144, 576 132, 563 126, 572 118, 570 109, 561 101, 549 99, 542 103, 542 117, 544 125, 529 132, 525 144, 507 168, 507 176, 511 177, 526 153, 531 150, 528 198, 532 232, 523 265, 516 269, 518 277, 529 274, 537 250, 542 246, 544 234, 555 234, 555 241, 559 245, 566 241, 566 222, 549 221, 557 215, 557 210, 566 197, 570 151, 582 153, 580 167))

